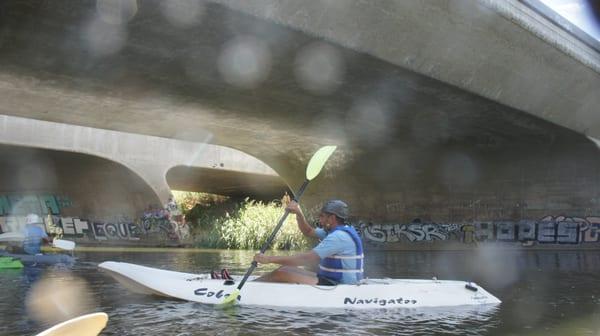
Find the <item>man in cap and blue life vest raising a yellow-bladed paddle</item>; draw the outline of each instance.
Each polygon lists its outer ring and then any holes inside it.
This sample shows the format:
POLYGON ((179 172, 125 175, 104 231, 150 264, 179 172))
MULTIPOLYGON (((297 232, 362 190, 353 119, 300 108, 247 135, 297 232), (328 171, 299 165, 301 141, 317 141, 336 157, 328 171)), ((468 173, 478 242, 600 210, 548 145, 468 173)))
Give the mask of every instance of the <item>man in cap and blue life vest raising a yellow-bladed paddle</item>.
POLYGON ((348 205, 340 200, 325 202, 319 214, 321 228, 308 224, 300 206, 295 201, 287 206, 296 215, 298 228, 307 237, 321 242, 311 251, 292 256, 267 256, 257 254, 254 260, 261 264, 279 264, 282 267, 255 281, 288 282, 309 285, 355 284, 363 278, 363 248, 358 233, 345 223, 348 205), (319 264, 315 274, 300 268, 319 264))

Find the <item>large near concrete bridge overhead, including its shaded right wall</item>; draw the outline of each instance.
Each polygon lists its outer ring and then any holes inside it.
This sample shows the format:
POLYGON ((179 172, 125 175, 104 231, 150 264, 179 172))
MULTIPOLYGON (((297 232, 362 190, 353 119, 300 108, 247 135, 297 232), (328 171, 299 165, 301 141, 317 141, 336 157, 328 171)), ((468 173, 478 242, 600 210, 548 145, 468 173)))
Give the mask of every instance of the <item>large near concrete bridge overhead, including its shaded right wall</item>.
POLYGON ((600 55, 517 0, 5 1, 0 15, 0 114, 210 139, 292 189, 337 144, 306 205, 344 198, 368 223, 600 214, 600 55))

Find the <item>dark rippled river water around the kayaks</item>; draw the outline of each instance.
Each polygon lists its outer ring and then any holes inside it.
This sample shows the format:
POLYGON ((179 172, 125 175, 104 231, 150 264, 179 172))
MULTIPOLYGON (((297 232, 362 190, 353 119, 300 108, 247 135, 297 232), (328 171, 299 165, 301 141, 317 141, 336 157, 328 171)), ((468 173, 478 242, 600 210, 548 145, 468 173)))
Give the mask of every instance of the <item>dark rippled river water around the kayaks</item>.
MULTIPOLYGON (((370 252, 371 278, 432 278, 475 281, 496 295, 494 309, 382 309, 291 311, 210 305, 133 294, 98 263, 126 261, 190 273, 227 267, 244 273, 254 252, 164 250, 77 252, 70 267, 0 271, 0 335, 34 335, 49 326, 33 319, 25 297, 40 279, 82 280, 86 312, 103 311, 102 335, 600 335, 600 253, 597 251, 370 252)), ((272 267, 260 267, 256 273, 272 267)), ((81 283, 82 281, 79 281, 81 283)), ((76 290, 73 287, 73 290, 76 290)))

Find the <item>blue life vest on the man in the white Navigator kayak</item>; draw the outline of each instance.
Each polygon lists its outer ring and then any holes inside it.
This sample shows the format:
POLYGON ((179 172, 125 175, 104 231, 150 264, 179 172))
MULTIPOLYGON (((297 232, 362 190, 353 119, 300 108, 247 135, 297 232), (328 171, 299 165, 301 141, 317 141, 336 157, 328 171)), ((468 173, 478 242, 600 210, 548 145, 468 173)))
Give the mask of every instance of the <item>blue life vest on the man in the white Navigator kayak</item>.
POLYGON ((322 278, 327 278, 330 280, 339 283, 342 281, 343 275, 347 273, 351 273, 356 276, 356 281, 360 281, 363 278, 363 248, 362 241, 358 236, 358 233, 352 226, 349 225, 339 225, 329 234, 334 233, 337 230, 344 231, 352 237, 354 241, 354 245, 356 246, 356 254, 353 256, 342 256, 342 255, 332 255, 326 258, 323 258, 319 263, 319 271, 317 272, 317 276, 322 278), (354 260, 354 268, 348 269, 344 268, 343 260, 354 260))

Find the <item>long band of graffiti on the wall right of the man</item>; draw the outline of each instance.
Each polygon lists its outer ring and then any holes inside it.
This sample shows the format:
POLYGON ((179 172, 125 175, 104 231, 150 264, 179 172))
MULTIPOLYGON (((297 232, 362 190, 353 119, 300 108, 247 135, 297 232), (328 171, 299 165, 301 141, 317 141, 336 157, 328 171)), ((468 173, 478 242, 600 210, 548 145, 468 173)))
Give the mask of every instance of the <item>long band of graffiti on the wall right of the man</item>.
POLYGON ((359 221, 356 227, 367 243, 459 241, 585 244, 600 241, 600 217, 545 216, 538 220, 471 223, 375 224, 359 221))

